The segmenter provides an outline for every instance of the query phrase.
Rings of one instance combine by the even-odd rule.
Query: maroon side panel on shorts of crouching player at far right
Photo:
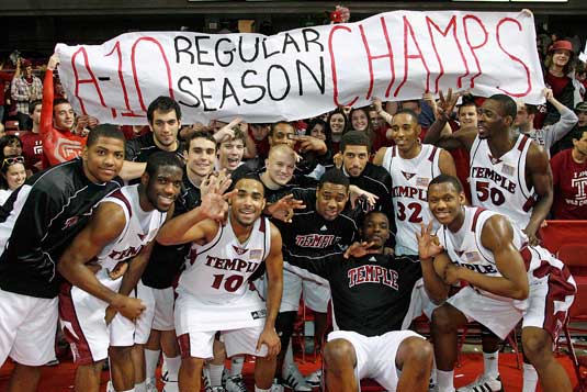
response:
[[[554,301],[564,302],[567,295],[576,294],[576,288],[568,282],[571,272],[566,266],[563,269],[550,265],[545,260],[540,261],[540,267],[533,271],[537,278],[549,276],[549,292],[544,299],[543,328],[551,334],[552,340],[558,340],[558,334],[566,320],[568,310],[554,312]]]

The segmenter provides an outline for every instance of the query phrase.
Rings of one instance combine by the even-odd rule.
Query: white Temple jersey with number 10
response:
[[[210,243],[192,244],[178,288],[206,303],[225,305],[238,301],[247,295],[248,279],[270,249],[271,228],[266,217],[255,222],[244,244],[239,243],[228,219]]]

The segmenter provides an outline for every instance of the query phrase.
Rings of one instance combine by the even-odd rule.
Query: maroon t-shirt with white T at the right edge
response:
[[[587,220],[587,163],[577,164],[573,148],[551,158],[555,220]]]

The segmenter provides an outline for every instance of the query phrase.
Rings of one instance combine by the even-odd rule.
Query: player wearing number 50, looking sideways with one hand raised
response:
[[[553,202],[552,171],[546,153],[529,136],[511,132],[517,115],[516,102],[504,94],[489,97],[479,109],[478,132],[461,128],[439,136],[439,128],[452,111],[456,97],[440,99],[440,113],[428,131],[425,143],[447,149],[463,148],[470,153],[472,204],[508,215],[522,229],[531,245],[537,245],[538,228]],[[497,368],[498,339],[483,335],[484,374],[463,392],[478,385],[493,391],[501,389]],[[524,392],[534,391],[538,376],[524,365]]]

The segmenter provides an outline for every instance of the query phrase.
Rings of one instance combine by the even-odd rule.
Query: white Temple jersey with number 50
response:
[[[535,203],[533,188],[526,183],[526,157],[531,139],[519,135],[516,145],[499,158],[492,156],[486,139],[477,136],[471,148],[473,205],[497,211],[521,229],[528,226]]]

